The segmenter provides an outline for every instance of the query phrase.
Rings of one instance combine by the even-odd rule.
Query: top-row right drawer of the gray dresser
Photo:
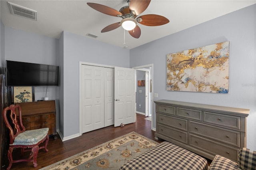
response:
[[[240,129],[240,117],[237,116],[204,112],[204,122]]]

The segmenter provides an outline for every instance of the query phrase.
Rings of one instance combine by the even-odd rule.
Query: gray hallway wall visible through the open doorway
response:
[[[136,71],[136,111],[141,112],[141,113],[145,113],[145,95],[146,95],[146,91],[145,91],[145,87],[138,87],[138,80],[145,80],[145,71]],[[142,91],[142,93],[139,93],[139,91]],[[140,105],[140,106],[139,106]]]

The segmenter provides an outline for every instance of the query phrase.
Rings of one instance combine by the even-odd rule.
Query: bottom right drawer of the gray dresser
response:
[[[218,154],[234,161],[237,161],[238,159],[238,148],[232,148],[192,134],[189,135],[189,145],[204,150],[210,154]]]

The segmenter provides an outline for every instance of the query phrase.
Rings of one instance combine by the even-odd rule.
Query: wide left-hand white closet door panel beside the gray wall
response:
[[[104,67],[82,65],[82,133],[104,127]]]

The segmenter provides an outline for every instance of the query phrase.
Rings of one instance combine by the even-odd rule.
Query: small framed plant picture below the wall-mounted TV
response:
[[[34,101],[34,87],[13,87],[13,101],[15,103]]]

